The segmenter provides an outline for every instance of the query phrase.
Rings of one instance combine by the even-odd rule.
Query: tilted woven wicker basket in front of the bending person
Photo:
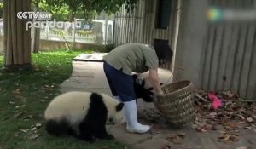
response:
[[[154,105],[172,127],[195,120],[194,86],[190,81],[167,84],[162,87],[164,95],[157,95]]]

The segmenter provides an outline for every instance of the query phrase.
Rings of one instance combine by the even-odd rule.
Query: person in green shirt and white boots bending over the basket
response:
[[[116,47],[103,57],[103,69],[113,98],[124,103],[123,113],[128,132],[145,133],[150,127],[137,121],[137,105],[132,72],[149,71],[154,94],[160,95],[158,67],[172,60],[172,49],[166,43],[154,45],[127,43]]]

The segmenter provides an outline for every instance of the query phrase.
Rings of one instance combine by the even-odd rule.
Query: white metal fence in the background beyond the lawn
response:
[[[86,21],[76,19],[73,23],[48,21],[39,28],[40,39],[43,40],[74,43],[113,43],[113,20]],[[0,26],[0,35],[3,36],[3,26]]]

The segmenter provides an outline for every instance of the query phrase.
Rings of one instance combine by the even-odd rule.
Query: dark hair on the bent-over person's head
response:
[[[167,43],[154,43],[153,46],[160,65],[172,61],[172,49]]]

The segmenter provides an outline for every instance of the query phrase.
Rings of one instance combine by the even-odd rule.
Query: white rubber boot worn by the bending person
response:
[[[137,122],[136,100],[124,102],[123,112],[126,120],[126,129],[132,133],[146,133],[150,127]]]

